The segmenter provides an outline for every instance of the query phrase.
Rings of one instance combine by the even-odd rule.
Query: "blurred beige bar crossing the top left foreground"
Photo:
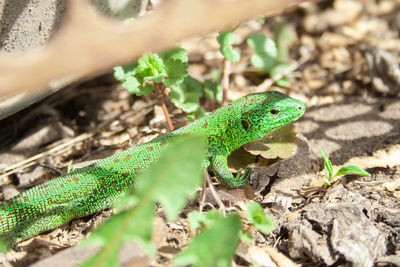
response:
[[[167,0],[129,26],[98,14],[89,1],[69,0],[60,29],[44,47],[0,53],[0,102],[40,94],[173,46],[196,34],[256,15],[280,13],[303,0]],[[50,89],[49,89],[50,88]]]

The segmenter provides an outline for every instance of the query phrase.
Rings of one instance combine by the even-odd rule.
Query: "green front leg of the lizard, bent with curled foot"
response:
[[[228,169],[227,157],[223,155],[213,156],[211,158],[211,165],[218,180],[230,188],[239,188],[248,185],[250,176],[253,173],[250,167],[246,167],[244,172],[239,170],[236,177],[233,176]]]

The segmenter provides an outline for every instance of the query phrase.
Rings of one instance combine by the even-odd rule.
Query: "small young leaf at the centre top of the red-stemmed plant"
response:
[[[167,69],[158,54],[145,54],[139,58],[137,72],[142,77],[143,82],[159,83],[167,77]]]

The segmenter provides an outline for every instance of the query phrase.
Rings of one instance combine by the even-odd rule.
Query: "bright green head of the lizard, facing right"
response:
[[[306,109],[303,102],[276,91],[249,94],[241,100],[240,123],[249,141],[298,120]]]

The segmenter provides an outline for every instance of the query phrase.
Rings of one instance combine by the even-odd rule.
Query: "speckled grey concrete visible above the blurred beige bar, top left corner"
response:
[[[92,4],[107,16],[123,19],[136,17],[148,1],[92,0]],[[43,45],[62,22],[66,6],[65,0],[0,0],[0,49],[20,52]]]

